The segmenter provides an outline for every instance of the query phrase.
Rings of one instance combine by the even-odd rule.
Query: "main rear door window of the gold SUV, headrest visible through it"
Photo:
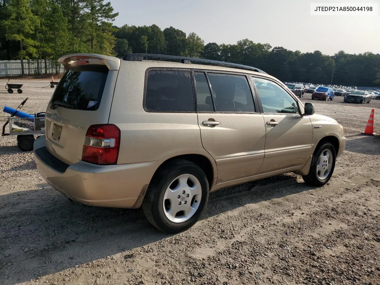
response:
[[[242,75],[207,73],[217,112],[255,112],[247,78]],[[211,97],[206,98],[212,103]]]

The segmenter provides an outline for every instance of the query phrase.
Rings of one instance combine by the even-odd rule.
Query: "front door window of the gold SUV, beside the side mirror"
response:
[[[299,114],[296,100],[275,82],[252,77],[264,113]]]

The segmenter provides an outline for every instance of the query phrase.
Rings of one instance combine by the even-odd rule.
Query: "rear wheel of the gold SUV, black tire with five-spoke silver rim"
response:
[[[142,209],[158,230],[179,233],[199,220],[208,197],[204,171],[188,160],[173,160],[153,176]]]

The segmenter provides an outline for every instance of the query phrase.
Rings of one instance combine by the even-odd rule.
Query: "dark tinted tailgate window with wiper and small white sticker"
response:
[[[63,108],[95,111],[99,108],[108,75],[105,65],[86,65],[70,68],[63,75],[51,103],[59,101]]]

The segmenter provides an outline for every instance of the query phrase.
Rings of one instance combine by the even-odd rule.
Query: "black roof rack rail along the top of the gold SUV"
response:
[[[220,67],[233,67],[233,68],[239,68],[239,69],[245,69],[245,70],[252,70],[260,73],[266,73],[265,71],[262,71],[261,69],[251,67],[248,65],[242,65],[237,63],[230,63],[230,62],[223,62],[218,60],[211,60],[211,59],[197,59],[195,57],[184,57],[184,56],[177,56],[177,55],[165,55],[165,54],[127,54],[123,57],[123,60],[129,60],[129,61],[142,61],[144,57],[151,57],[155,59],[175,59],[175,60],[181,60],[182,63],[191,63],[191,62],[199,62],[207,65],[216,65]]]

